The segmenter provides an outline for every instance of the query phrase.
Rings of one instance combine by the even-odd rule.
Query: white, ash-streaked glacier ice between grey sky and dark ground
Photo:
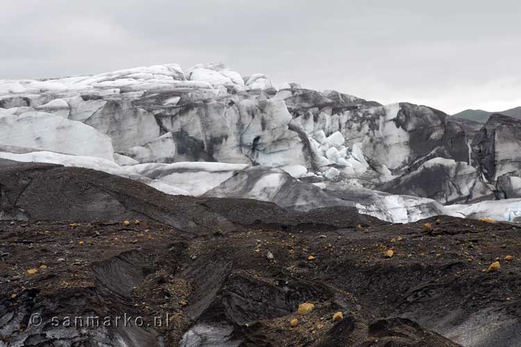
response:
[[[220,63],[0,80],[0,158],[106,171],[167,194],[349,205],[402,223],[520,221],[519,123],[490,117],[470,142],[427,106],[276,90]]]

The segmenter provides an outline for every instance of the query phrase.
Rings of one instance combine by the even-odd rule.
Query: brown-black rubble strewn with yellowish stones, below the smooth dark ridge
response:
[[[0,221],[0,254],[10,253],[0,262],[0,341],[40,347],[459,346],[453,339],[463,346],[515,346],[521,326],[518,228],[450,217],[428,221],[429,232],[420,221],[367,226],[366,232],[259,225],[199,237],[147,219],[76,228]],[[384,257],[391,247],[394,257]],[[514,255],[510,262],[508,254]],[[502,269],[483,273],[495,257]],[[38,273],[26,273],[33,268]],[[297,314],[304,302],[315,308]],[[345,319],[335,322],[339,311]],[[33,314],[44,324],[29,324]],[[124,314],[142,317],[145,326],[49,323],[53,316],[63,322],[64,316]],[[154,325],[158,316],[163,325]],[[290,328],[293,318],[298,324]]]

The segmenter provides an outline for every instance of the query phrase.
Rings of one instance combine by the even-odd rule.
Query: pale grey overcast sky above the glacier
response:
[[[0,0],[0,78],[167,62],[499,111],[521,105],[521,1]]]

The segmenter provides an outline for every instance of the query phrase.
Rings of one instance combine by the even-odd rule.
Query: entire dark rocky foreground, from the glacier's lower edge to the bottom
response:
[[[521,345],[515,223],[297,212],[53,164],[3,161],[0,185],[26,219],[0,223],[0,346]],[[124,314],[144,324],[65,323]]]

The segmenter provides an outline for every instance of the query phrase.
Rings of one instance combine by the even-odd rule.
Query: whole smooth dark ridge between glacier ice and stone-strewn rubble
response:
[[[380,223],[354,208],[347,208],[340,220],[331,217],[334,209],[319,210],[308,218],[263,201],[172,196],[128,178],[53,164],[1,160],[0,187],[1,219],[78,222],[146,218],[185,232],[234,230],[253,223],[281,223],[286,228],[299,228],[302,223],[309,227],[315,221],[320,228]]]

